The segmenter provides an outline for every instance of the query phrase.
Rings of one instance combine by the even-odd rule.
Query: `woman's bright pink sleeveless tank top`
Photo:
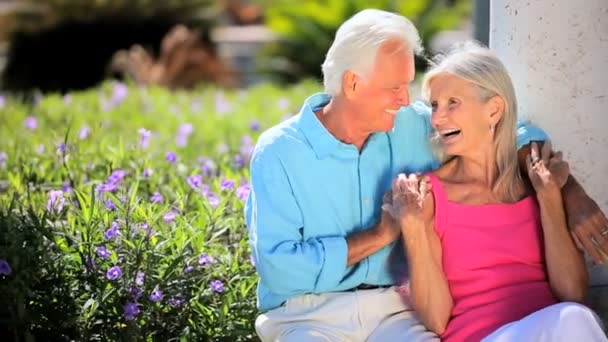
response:
[[[435,229],[454,307],[444,341],[479,341],[502,325],[555,304],[535,197],[513,204],[447,200],[431,174]]]

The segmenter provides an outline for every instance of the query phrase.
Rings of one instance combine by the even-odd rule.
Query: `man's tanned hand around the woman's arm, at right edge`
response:
[[[568,227],[576,245],[595,263],[608,261],[608,219],[572,177],[564,187]]]

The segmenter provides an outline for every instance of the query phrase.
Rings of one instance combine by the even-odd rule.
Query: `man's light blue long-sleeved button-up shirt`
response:
[[[404,259],[400,253],[389,262],[395,243],[347,267],[346,237],[379,222],[382,197],[399,173],[439,165],[426,104],[401,108],[394,129],[372,134],[359,151],[315,116],[329,100],[309,97],[298,115],[262,133],[253,153],[245,217],[260,310],[305,293],[394,284],[389,264]],[[519,146],[546,139],[537,127],[518,123]]]

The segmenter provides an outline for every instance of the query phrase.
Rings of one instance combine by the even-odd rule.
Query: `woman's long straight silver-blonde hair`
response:
[[[517,99],[507,68],[490,49],[475,42],[465,42],[434,59],[422,82],[425,98],[429,98],[431,81],[440,74],[451,74],[472,83],[482,102],[494,96],[504,101],[502,118],[494,127],[498,178],[493,192],[505,201],[518,200],[523,182],[517,158]]]

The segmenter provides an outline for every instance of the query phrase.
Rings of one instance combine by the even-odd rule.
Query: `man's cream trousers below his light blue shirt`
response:
[[[263,342],[439,341],[395,286],[290,298],[258,316],[255,328]]]

